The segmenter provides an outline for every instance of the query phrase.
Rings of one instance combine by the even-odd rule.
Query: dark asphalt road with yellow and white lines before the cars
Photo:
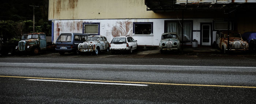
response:
[[[0,56],[0,88],[0,103],[255,104],[256,56]]]

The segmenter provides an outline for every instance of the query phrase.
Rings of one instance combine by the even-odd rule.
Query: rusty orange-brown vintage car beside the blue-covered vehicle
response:
[[[222,50],[225,54],[227,51],[246,51],[248,50],[248,42],[244,41],[238,32],[229,32],[229,43],[227,43],[228,31],[218,31],[216,41],[213,42],[215,47]],[[229,45],[229,47],[228,47]]]

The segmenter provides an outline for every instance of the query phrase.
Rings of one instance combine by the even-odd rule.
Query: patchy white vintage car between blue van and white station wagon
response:
[[[85,42],[78,44],[80,52],[93,52],[98,55],[99,51],[106,50],[109,52],[109,42],[104,36],[90,36]]]

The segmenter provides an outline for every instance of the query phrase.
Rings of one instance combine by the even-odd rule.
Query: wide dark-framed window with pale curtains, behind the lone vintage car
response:
[[[181,41],[182,28],[181,21],[165,21],[165,33],[174,32],[178,34],[178,38]],[[183,38],[186,42],[191,42],[192,34],[192,21],[184,21],[184,34]]]

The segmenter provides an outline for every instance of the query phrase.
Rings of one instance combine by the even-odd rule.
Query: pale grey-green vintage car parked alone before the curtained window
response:
[[[167,50],[180,50],[180,41],[177,33],[163,33],[159,43],[161,53]]]

